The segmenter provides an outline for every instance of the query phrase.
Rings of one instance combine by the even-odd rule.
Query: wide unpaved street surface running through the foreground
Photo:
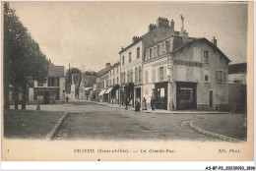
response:
[[[83,110],[78,110],[78,108]],[[182,140],[220,141],[189,128],[206,114],[156,114],[112,108],[92,102],[71,102],[70,112],[54,140]]]

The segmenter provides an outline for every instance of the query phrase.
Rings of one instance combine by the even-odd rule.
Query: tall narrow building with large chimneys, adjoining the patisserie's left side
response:
[[[130,99],[130,104],[134,106],[135,98],[142,99],[142,62],[145,57],[145,49],[160,40],[170,36],[178,35],[174,30],[173,20],[169,22],[165,18],[159,18],[157,25],[151,24],[149,31],[139,36],[133,37],[133,42],[119,52],[121,65],[121,104],[125,99]]]

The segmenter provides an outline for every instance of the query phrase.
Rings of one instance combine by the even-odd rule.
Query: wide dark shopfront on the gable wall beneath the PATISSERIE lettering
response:
[[[197,108],[195,83],[176,83],[177,110],[188,110]]]

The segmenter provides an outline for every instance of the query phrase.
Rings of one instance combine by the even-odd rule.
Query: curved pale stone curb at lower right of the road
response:
[[[189,127],[199,133],[202,133],[204,135],[207,135],[207,136],[210,136],[210,137],[213,137],[213,138],[216,138],[216,139],[219,139],[219,140],[222,140],[222,141],[225,141],[225,142],[243,142],[243,141],[239,141],[237,139],[233,139],[233,138],[229,138],[227,136],[224,136],[224,135],[220,135],[220,134],[216,134],[216,133],[212,133],[212,132],[208,132],[208,131],[205,131],[203,129],[200,129],[198,127],[195,127],[193,125],[193,123],[197,121],[197,120],[194,120],[194,121],[190,121],[189,122]]]

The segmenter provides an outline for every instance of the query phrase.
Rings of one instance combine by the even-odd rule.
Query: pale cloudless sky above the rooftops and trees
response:
[[[121,47],[148,32],[159,17],[191,37],[213,36],[232,61],[246,62],[247,4],[185,2],[10,2],[21,22],[55,65],[99,71],[119,61]]]

